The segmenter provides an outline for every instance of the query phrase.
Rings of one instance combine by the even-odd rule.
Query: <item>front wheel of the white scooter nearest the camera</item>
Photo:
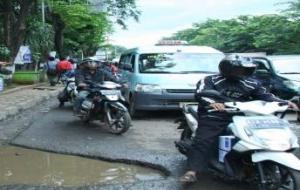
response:
[[[260,185],[260,190],[299,190],[300,172],[279,164],[263,166],[266,184]]]

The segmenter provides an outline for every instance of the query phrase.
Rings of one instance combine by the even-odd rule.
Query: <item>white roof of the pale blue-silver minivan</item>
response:
[[[222,53],[221,51],[208,46],[147,46],[137,47],[125,51],[127,53],[175,53],[175,52],[186,52],[186,53]]]

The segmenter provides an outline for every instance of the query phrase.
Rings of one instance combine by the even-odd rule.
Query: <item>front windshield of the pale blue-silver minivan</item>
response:
[[[217,73],[221,53],[155,53],[141,54],[141,73]]]

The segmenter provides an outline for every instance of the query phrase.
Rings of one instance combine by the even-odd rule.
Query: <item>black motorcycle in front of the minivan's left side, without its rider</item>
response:
[[[111,81],[104,81],[101,84],[88,83],[89,95],[82,102],[80,118],[85,122],[100,120],[113,134],[125,133],[131,126],[131,118],[124,106],[122,85]]]

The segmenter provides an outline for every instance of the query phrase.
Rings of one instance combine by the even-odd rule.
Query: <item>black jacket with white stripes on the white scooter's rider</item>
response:
[[[212,75],[197,83],[195,98],[199,102],[198,111],[206,111],[206,106],[216,102],[212,98],[200,96],[199,93],[203,90],[216,90],[222,95],[240,102],[251,100],[286,102],[267,92],[258,80],[251,77],[240,80],[228,80],[221,75]]]

